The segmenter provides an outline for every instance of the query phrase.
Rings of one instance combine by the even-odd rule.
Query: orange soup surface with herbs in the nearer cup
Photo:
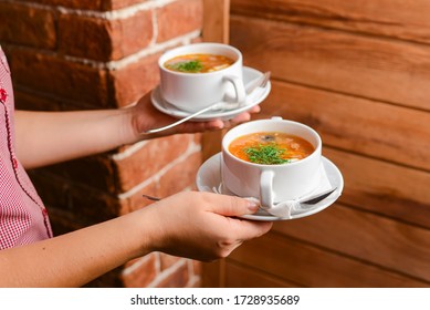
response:
[[[293,163],[310,156],[315,147],[306,140],[280,132],[261,132],[240,136],[229,145],[235,157],[263,165]]]

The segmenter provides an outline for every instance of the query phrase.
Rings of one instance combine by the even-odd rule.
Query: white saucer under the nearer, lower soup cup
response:
[[[222,188],[220,186],[221,184],[221,153],[218,153],[210,157],[208,161],[206,161],[201,167],[199,168],[197,173],[197,188],[200,192],[210,192],[214,193],[212,188],[220,188],[221,187],[221,194],[226,195],[234,195],[231,192],[229,192],[226,188]],[[332,187],[337,187],[337,190],[333,193],[331,196],[325,198],[324,200],[315,204],[312,208],[310,208],[308,211],[301,213],[297,215],[292,215],[291,218],[282,218],[276,217],[273,215],[268,214],[266,211],[260,209],[253,215],[245,215],[242,216],[242,218],[252,219],[252,220],[264,220],[264,221],[274,221],[274,220],[287,220],[287,219],[295,219],[301,218],[305,216],[310,216],[313,214],[316,214],[318,211],[322,211],[323,209],[327,208],[328,206],[333,205],[337,200],[337,198],[340,196],[342,190],[344,189],[344,178],[340,174],[340,170],[333,164],[331,161],[325,158],[323,156],[323,165],[325,168],[325,172],[327,174],[328,180],[332,185]]]

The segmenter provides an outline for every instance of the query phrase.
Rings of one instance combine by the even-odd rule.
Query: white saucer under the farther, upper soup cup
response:
[[[254,79],[263,75],[262,72],[249,68],[243,66],[243,82],[247,85],[247,83],[253,81]],[[259,87],[254,90],[245,100],[245,104],[241,107],[229,110],[229,111],[212,111],[212,112],[206,112],[201,115],[196,116],[191,121],[195,122],[201,122],[201,121],[211,121],[220,118],[222,121],[228,121],[237,116],[238,114],[245,112],[253,107],[254,105],[258,105],[263,100],[266,99],[271,90],[271,83],[270,81],[265,85],[265,87]],[[190,115],[190,112],[180,110],[174,105],[171,105],[169,102],[167,102],[165,99],[162,99],[160,89],[157,86],[153,93],[151,93],[151,102],[153,105],[160,112],[166,113],[170,116],[177,117],[177,118],[183,118]]]

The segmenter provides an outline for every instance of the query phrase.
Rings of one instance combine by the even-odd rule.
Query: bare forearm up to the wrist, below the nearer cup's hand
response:
[[[149,252],[151,226],[139,213],[0,251],[0,287],[81,287]]]

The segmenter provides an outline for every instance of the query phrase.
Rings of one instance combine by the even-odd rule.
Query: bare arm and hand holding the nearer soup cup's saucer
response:
[[[80,287],[154,250],[206,261],[227,257],[271,228],[230,217],[255,210],[238,197],[180,193],[109,221],[0,251],[0,287]]]

